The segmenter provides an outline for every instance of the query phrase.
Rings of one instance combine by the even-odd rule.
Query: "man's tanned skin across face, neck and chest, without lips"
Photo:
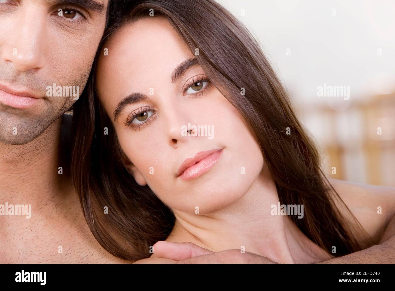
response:
[[[98,2],[104,12],[81,7],[87,20],[76,24],[55,13],[64,5],[0,0],[0,84],[43,97],[24,109],[0,103],[0,203],[32,205],[30,219],[0,216],[0,263],[124,262],[90,233],[60,159],[60,116],[74,100],[45,95],[53,82],[82,92],[105,27]]]

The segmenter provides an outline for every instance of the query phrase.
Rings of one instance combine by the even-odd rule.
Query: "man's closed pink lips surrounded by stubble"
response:
[[[38,102],[40,96],[27,89],[15,89],[0,84],[0,102],[15,108],[26,108]]]

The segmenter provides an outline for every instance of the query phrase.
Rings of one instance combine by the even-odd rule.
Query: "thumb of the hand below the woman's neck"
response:
[[[199,247],[191,242],[174,243],[159,241],[153,245],[153,250],[156,257],[175,261],[191,259],[213,253],[212,251]]]

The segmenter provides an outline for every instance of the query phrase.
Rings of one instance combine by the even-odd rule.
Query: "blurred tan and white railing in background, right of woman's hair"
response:
[[[316,138],[329,177],[395,186],[395,92],[329,105],[297,107]]]

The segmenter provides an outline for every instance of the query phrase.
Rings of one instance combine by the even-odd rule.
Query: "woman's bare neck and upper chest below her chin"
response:
[[[266,177],[265,177],[266,176]],[[331,258],[284,215],[270,175],[261,174],[246,194],[229,207],[207,215],[174,210],[169,242],[192,242],[214,252],[226,249],[256,253],[279,263],[307,263]]]

